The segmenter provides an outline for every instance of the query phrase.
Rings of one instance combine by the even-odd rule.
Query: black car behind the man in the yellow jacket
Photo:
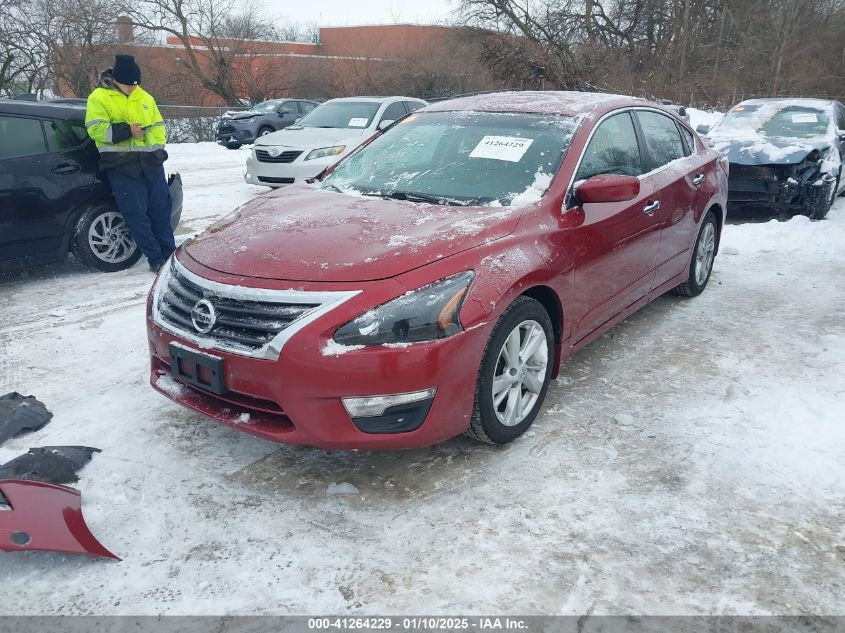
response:
[[[0,99],[0,273],[62,261],[112,272],[141,257],[85,131],[85,108]],[[182,181],[168,179],[173,227]]]

